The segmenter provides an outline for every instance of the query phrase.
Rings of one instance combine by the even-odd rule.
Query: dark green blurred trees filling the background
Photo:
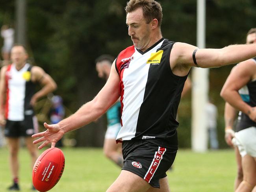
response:
[[[14,18],[14,0],[2,0],[0,24]],[[195,0],[159,0],[163,6],[162,33],[173,41],[196,44]],[[104,81],[97,77],[95,58],[117,56],[132,44],[125,24],[123,0],[27,0],[28,48],[35,65],[43,67],[58,83],[56,94],[76,111],[91,100]],[[221,48],[244,43],[255,27],[253,0],[206,1],[206,47]],[[6,16],[7,15],[7,16]],[[210,95],[219,108],[219,140],[223,140],[224,102],[219,96],[232,66],[210,70]],[[216,78],[217,77],[217,78]],[[180,103],[178,128],[181,147],[190,147],[191,97]],[[78,146],[102,146],[105,118],[78,129]],[[223,140],[224,141],[224,140]],[[221,147],[226,147],[221,142]]]

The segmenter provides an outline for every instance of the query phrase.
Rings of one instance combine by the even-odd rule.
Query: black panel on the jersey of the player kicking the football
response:
[[[177,148],[176,114],[181,92],[187,76],[176,76],[171,71],[170,53],[174,42],[164,40],[157,50],[163,50],[159,65],[150,64],[143,103],[139,111],[136,133],[133,139],[155,137],[150,142],[166,148]]]

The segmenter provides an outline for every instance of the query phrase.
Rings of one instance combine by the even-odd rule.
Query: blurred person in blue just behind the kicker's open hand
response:
[[[63,106],[63,100],[61,96],[55,95],[51,99],[52,108],[50,110],[51,124],[56,124],[63,120],[65,116],[65,109]],[[56,147],[63,147],[62,138],[56,143]]]

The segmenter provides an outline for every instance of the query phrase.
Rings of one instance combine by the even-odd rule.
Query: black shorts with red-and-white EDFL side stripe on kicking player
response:
[[[151,186],[160,188],[159,179],[166,177],[177,150],[167,149],[147,140],[122,142],[124,166],[122,170],[139,175]]]

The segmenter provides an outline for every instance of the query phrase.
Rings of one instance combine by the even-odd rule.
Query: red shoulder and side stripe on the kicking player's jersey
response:
[[[124,83],[122,81],[123,78],[123,73],[124,73],[124,69],[129,67],[130,61],[132,55],[135,52],[135,48],[134,45],[130,46],[128,48],[126,48],[125,50],[122,50],[122,52],[120,52],[120,54],[117,57],[116,60],[116,67],[118,70],[118,74],[120,77],[120,83],[119,83],[119,94],[120,94],[120,102],[121,102],[121,114],[122,114],[122,109],[124,107],[124,103],[122,102],[122,100],[124,99]],[[122,118],[121,118],[121,126],[122,126]]]

